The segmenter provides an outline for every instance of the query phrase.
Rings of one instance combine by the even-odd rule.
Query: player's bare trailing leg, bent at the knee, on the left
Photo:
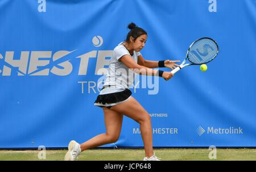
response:
[[[115,143],[118,140],[122,128],[123,115],[105,107],[103,110],[106,133],[97,135],[80,144],[81,151],[108,143]]]

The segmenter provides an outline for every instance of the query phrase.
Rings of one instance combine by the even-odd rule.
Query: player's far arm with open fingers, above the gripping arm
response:
[[[179,66],[179,65],[175,64],[176,62],[180,62],[180,61],[166,60],[166,61],[164,61],[164,67],[168,67],[168,68],[171,68],[173,70],[175,67]],[[159,61],[148,61],[148,60],[144,59],[142,57],[142,55],[138,56],[138,64],[141,65],[141,66],[144,66],[144,67],[148,67],[148,68],[159,67],[158,66]]]

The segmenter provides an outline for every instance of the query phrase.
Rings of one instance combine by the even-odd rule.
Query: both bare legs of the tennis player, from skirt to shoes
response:
[[[111,109],[104,108],[106,133],[82,143],[80,145],[81,151],[117,141],[122,127],[122,114],[140,124],[146,157],[153,156],[151,117],[133,97],[122,104],[113,106]]]

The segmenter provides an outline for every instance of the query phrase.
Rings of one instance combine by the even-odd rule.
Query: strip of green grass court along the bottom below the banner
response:
[[[40,151],[0,151],[1,161],[42,161],[38,158]],[[46,150],[47,161],[61,161],[67,150]],[[217,159],[209,159],[210,151],[205,149],[169,148],[155,149],[155,155],[162,161],[256,161],[256,149],[217,149]],[[90,149],[80,154],[80,161],[141,161],[143,149]]]

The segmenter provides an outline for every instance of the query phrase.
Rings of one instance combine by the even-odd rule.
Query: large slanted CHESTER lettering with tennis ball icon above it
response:
[[[98,48],[102,45],[101,36],[92,38],[93,46]],[[105,75],[106,66],[109,65],[113,50],[93,50],[84,53],[79,50],[60,51],[6,51],[0,52],[0,75],[11,76],[14,72],[18,76],[48,76],[50,73],[58,76],[66,76],[73,71],[75,59],[79,61],[78,75],[86,75],[90,59],[97,59],[95,75]],[[18,58],[19,57],[19,58]]]

